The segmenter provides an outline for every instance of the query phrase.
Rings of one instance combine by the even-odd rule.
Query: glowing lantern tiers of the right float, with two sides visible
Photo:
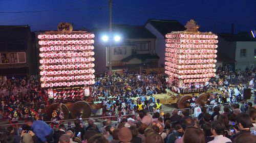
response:
[[[165,38],[165,73],[177,81],[175,86],[182,88],[183,83],[195,82],[204,85],[216,75],[217,35],[172,32]]]

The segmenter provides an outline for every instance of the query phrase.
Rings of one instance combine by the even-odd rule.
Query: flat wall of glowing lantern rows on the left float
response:
[[[94,34],[44,33],[39,39],[39,69],[42,88],[83,86],[95,78]],[[87,74],[87,75],[85,75]],[[91,81],[90,81],[91,80]]]

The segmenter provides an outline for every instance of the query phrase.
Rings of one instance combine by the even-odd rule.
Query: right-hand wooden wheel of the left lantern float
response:
[[[75,102],[70,110],[72,119],[76,119],[79,113],[81,113],[82,119],[89,118],[92,113],[91,106],[85,101]]]

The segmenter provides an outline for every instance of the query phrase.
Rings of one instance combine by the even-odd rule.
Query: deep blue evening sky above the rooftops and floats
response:
[[[255,6],[255,0],[113,0],[113,23],[143,25],[152,18],[185,24],[193,18],[201,26],[200,31],[230,32],[231,23],[234,23],[235,32],[250,31],[256,29]],[[61,21],[72,22],[74,29],[108,27],[109,1],[0,1],[0,25],[28,24],[32,31],[56,30]]]

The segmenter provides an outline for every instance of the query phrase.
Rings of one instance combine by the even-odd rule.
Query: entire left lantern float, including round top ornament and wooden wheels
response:
[[[65,119],[82,118],[91,115],[91,107],[84,99],[90,96],[90,85],[95,83],[94,34],[86,31],[73,31],[72,24],[61,22],[58,31],[38,35],[39,69],[41,88],[48,91],[49,101],[55,102],[46,107],[51,117],[52,110],[62,104]]]

